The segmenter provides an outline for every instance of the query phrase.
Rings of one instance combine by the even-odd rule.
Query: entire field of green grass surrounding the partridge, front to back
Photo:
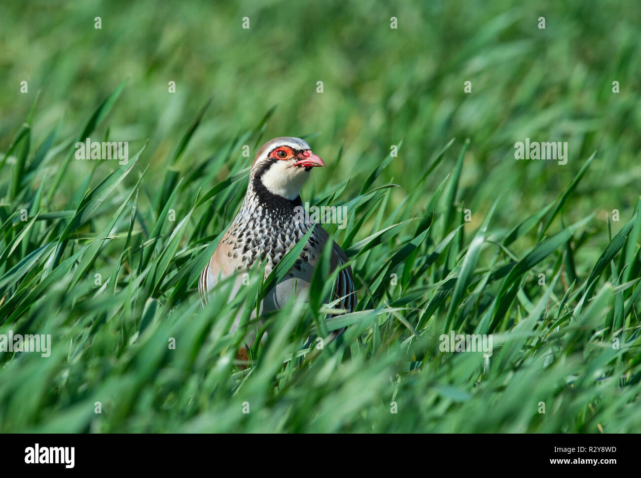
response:
[[[52,350],[0,353],[0,431],[641,429],[639,12],[618,5],[3,6],[0,334]],[[319,275],[239,370],[227,330],[263,284],[201,309],[197,279],[279,135],[328,166],[303,201],[348,207],[324,227],[360,302],[325,321]],[[128,163],[76,160],[87,137]],[[567,164],[514,160],[526,137]],[[442,351],[451,331],[492,356]]]

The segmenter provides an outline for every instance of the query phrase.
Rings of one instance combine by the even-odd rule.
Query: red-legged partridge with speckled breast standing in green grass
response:
[[[221,280],[236,274],[231,290],[232,300],[242,287],[240,272],[247,271],[256,260],[266,260],[267,277],[312,227],[312,234],[294,266],[263,299],[260,314],[281,309],[292,294],[296,294],[296,298],[306,296],[327,241],[331,240],[333,243],[330,272],[348,262],[344,250],[304,212],[300,192],[314,167],[325,167],[325,163],[300,138],[274,138],[258,149],[249,172],[249,183],[242,206],[199,278],[199,294],[205,307],[208,293]],[[351,266],[338,272],[333,289],[333,300],[338,300],[340,309],[353,312],[357,300]],[[255,317],[255,311],[253,316]],[[240,312],[230,332],[237,330],[239,320]],[[246,345],[237,354],[240,361],[247,361],[246,347],[256,339],[257,330],[258,326],[245,337]],[[266,339],[267,334],[263,334],[262,343]]]

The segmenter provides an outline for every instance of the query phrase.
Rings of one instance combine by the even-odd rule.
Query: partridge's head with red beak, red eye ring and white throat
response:
[[[288,200],[296,199],[310,177],[312,167],[325,166],[310,145],[300,138],[281,137],[267,141],[258,149],[249,181],[258,182],[267,191]]]

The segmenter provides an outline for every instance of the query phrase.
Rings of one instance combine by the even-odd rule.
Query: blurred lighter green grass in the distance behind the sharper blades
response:
[[[469,137],[461,197],[485,213],[501,184],[510,208],[497,218],[507,224],[515,211],[528,214],[554,198],[595,149],[600,180],[582,185],[577,217],[594,205],[629,210],[638,192],[641,8],[634,1],[36,1],[1,8],[4,148],[37,90],[35,135],[63,115],[62,132],[71,135],[88,108],[128,79],[111,136],[149,138],[151,165],[160,166],[180,128],[212,97],[183,162],[214,153],[277,105],[265,137],[318,132],[314,146],[330,158],[344,144],[342,177],[404,138],[401,158],[384,174],[412,187],[444,142]],[[19,93],[23,80],[28,94]],[[463,92],[464,81],[472,81],[472,94]],[[526,137],[567,141],[569,164],[515,162],[513,144]],[[81,167],[69,172],[73,186]]]

